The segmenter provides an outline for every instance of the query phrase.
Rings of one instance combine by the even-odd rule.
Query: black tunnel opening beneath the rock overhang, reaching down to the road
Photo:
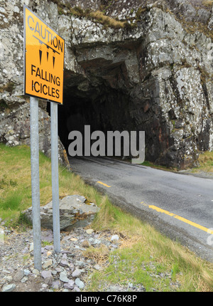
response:
[[[117,75],[116,75],[117,77]],[[79,131],[82,133],[82,146],[84,156],[84,127],[89,125],[90,134],[94,131],[104,132],[105,137],[105,156],[107,155],[107,132],[108,131],[118,131],[129,133],[129,154],[126,154],[124,150],[124,137],[121,137],[121,154],[116,154],[116,144],[113,143],[113,157],[120,157],[125,159],[131,159],[133,156],[131,154],[131,131],[146,130],[146,152],[148,148],[155,154],[158,151],[153,150],[152,137],[149,137],[151,129],[150,125],[153,124],[152,117],[149,118],[148,112],[144,112],[144,102],[147,105],[147,99],[145,101],[139,100],[135,94],[135,88],[130,90],[126,88],[124,82],[122,85],[111,86],[111,83],[107,80],[101,80],[97,78],[95,85],[84,84],[85,87],[80,87],[79,85],[65,86],[63,105],[58,105],[58,135],[60,141],[65,147],[68,158],[69,145],[72,142],[68,138],[70,132]],[[50,114],[50,105],[48,104],[48,112]],[[148,118],[148,119],[147,119]],[[158,124],[158,122],[157,122]],[[137,134],[137,144],[136,149],[139,149],[139,139]],[[92,141],[91,141],[92,144]],[[128,150],[127,150],[128,151]],[[155,156],[146,158],[154,160]]]

